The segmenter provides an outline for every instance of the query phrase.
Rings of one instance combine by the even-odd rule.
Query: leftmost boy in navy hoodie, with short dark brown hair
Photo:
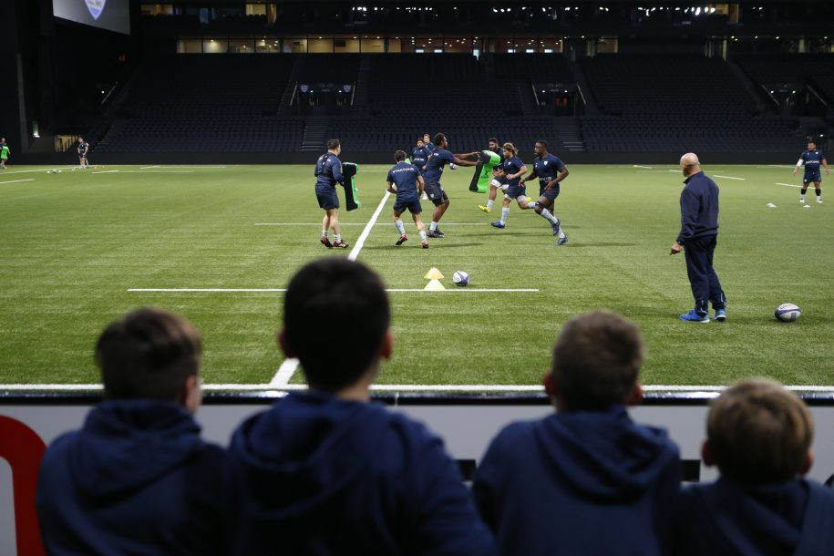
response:
[[[139,309],[96,360],[106,400],[46,450],[36,504],[48,554],[221,554],[223,450],[201,439],[201,341],[184,318]]]

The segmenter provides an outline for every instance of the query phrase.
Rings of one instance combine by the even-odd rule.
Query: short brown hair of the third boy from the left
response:
[[[551,367],[559,407],[602,411],[631,396],[643,364],[637,327],[610,311],[571,319],[553,347]]]

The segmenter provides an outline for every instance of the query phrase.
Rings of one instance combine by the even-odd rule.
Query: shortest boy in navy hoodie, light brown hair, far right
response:
[[[777,382],[745,380],[710,409],[702,457],[714,483],[687,487],[675,554],[834,554],[834,493],[802,476],[813,463],[808,407]]]

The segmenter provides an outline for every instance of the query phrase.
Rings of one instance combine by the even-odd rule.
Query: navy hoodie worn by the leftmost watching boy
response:
[[[100,404],[41,463],[36,504],[46,552],[220,554],[223,458],[183,407]]]

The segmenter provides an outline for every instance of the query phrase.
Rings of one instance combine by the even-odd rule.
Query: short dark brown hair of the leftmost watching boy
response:
[[[176,401],[188,378],[199,373],[201,353],[200,334],[188,320],[143,308],[104,329],[96,363],[110,399]]]

